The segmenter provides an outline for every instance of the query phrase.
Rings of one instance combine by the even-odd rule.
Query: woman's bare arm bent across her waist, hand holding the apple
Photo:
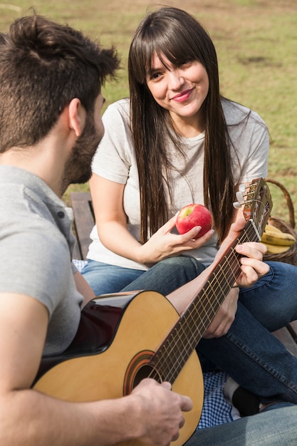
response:
[[[162,226],[150,240],[140,244],[127,229],[127,216],[123,209],[125,185],[93,174],[90,179],[95,221],[98,236],[104,246],[120,256],[141,264],[155,264],[169,256],[202,246],[214,233],[212,230],[194,240],[200,228],[195,227],[187,234],[171,234],[176,216]]]

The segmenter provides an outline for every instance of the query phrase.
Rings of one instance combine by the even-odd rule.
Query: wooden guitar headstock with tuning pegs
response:
[[[256,232],[261,238],[272,209],[271,193],[265,180],[256,178],[247,187],[241,185],[236,197],[239,201],[234,203],[234,207],[238,208],[241,207],[241,204],[244,205],[243,213],[246,222],[249,220],[253,222]]]

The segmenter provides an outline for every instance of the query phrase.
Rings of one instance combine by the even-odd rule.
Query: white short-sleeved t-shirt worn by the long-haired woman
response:
[[[231,149],[234,160],[235,184],[250,182],[254,178],[266,177],[269,152],[269,134],[263,120],[255,112],[242,105],[222,100],[229,135],[235,149]],[[123,205],[127,215],[127,229],[139,241],[140,239],[140,192],[135,151],[129,125],[129,99],[119,100],[108,107],[103,115],[105,134],[93,158],[92,170],[107,180],[125,184]],[[250,113],[251,112],[251,113]],[[249,118],[242,125],[236,125]],[[186,150],[186,159],[181,157],[174,147],[168,147],[170,161],[177,168],[170,172],[172,199],[170,215],[189,203],[204,204],[203,165],[204,133],[194,138],[182,138]],[[235,153],[236,151],[236,153]],[[168,202],[170,202],[167,194]],[[133,269],[147,269],[147,266],[126,259],[106,249],[100,242],[97,228],[94,227],[90,238],[88,259],[102,261]],[[217,234],[214,234],[203,247],[193,250],[190,255],[205,265],[209,265],[217,253]]]

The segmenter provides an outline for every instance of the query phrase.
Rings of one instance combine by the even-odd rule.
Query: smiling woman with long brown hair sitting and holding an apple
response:
[[[166,261],[209,265],[240,215],[235,191],[267,175],[266,125],[220,95],[212,40],[185,11],[165,7],[142,21],[129,82],[130,101],[103,116],[93,160],[96,227],[83,274],[96,294],[150,287],[145,276]],[[211,209],[214,233],[174,231],[177,210],[190,202]],[[261,403],[297,403],[297,360],[270,333],[297,318],[297,268],[269,266],[250,289],[231,290],[197,351],[204,370],[211,361]]]

